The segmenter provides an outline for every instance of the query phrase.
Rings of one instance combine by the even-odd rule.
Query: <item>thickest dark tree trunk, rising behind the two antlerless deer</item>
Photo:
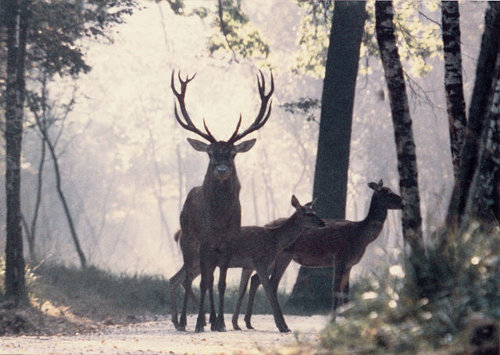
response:
[[[345,218],[351,123],[359,51],[366,20],[364,1],[335,1],[325,67],[313,195],[322,218]],[[332,268],[301,267],[289,299],[308,311],[330,309]]]

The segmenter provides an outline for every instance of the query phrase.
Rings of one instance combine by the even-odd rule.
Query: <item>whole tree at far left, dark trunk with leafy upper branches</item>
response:
[[[5,284],[6,296],[16,303],[26,295],[20,199],[26,68],[37,73],[44,71],[48,76],[76,76],[89,71],[83,60],[83,47],[76,40],[83,36],[106,37],[107,26],[123,22],[123,16],[130,14],[133,6],[134,0],[0,2],[1,31],[7,33],[7,50],[0,46],[0,103],[5,105],[6,147]]]

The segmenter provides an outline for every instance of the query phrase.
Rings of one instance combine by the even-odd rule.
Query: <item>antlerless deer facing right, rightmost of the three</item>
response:
[[[379,236],[387,217],[387,210],[403,207],[401,197],[388,187],[384,187],[382,180],[378,184],[370,182],[368,186],[374,192],[368,215],[364,220],[353,222],[326,219],[326,227],[304,231],[295,243],[277,256],[270,280],[275,294],[281,277],[292,260],[305,267],[333,266],[332,311],[333,317],[335,317],[337,307],[347,302],[351,268],[361,260],[368,244]],[[279,224],[281,221],[277,220],[274,223]],[[245,281],[242,280],[241,283],[243,282]],[[251,325],[252,306],[259,284],[259,276],[252,276],[245,314],[245,323],[248,329],[253,329]],[[235,318],[238,318],[236,312],[233,315],[233,319]]]

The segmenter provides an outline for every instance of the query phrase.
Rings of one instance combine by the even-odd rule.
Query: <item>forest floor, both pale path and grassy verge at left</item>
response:
[[[158,294],[163,280],[59,266],[40,268],[33,279],[29,305],[0,302],[0,354],[307,354],[329,320],[285,314],[292,332],[282,334],[270,314],[253,315],[255,330],[241,331],[227,314],[226,332],[207,326],[195,333],[191,314],[188,330],[178,332]]]

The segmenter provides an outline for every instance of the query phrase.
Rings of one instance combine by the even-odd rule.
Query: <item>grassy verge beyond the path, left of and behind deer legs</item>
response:
[[[5,269],[2,259],[0,267],[1,273]],[[82,270],[74,266],[43,263],[36,267],[26,267],[26,282],[30,304],[21,311],[24,312],[23,317],[33,323],[33,326],[26,329],[44,328],[44,333],[52,331],[49,327],[43,327],[46,323],[61,323],[62,330],[56,329],[56,332],[83,332],[92,330],[99,324],[150,320],[158,316],[169,316],[170,312],[168,280],[162,277],[117,274],[96,267]],[[217,297],[217,287],[214,291]],[[0,275],[0,294],[3,292],[3,275]],[[194,292],[199,295],[196,286]],[[227,312],[232,312],[235,308],[237,295],[237,286],[227,288]],[[182,296],[183,292],[179,291],[178,307],[182,305]],[[286,302],[286,297],[285,294],[279,294],[282,304]],[[242,308],[245,306],[246,297]],[[196,313],[197,307],[190,300],[188,312]],[[262,290],[255,297],[254,313],[272,313]],[[44,317],[50,319],[44,320]]]

